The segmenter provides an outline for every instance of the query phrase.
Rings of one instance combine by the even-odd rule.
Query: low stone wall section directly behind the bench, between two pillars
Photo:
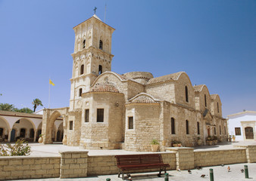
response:
[[[164,152],[162,153],[162,158],[165,164],[170,164],[170,167],[167,170],[176,169],[176,154],[175,152]],[[130,173],[139,173],[139,172],[150,172],[157,171],[158,169],[148,169],[148,170],[131,170]],[[89,176],[95,175],[108,175],[108,174],[117,174],[117,161],[114,158],[114,155],[95,155],[89,156],[88,158],[88,170],[87,174]]]

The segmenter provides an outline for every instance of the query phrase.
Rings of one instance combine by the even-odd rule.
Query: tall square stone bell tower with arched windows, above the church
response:
[[[89,90],[95,78],[111,71],[111,38],[114,28],[103,23],[95,14],[73,27],[75,44],[70,89],[70,111],[82,106],[81,94]]]

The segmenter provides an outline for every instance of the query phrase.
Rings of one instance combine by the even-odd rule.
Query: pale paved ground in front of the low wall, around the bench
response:
[[[244,168],[244,165],[248,165],[248,173],[249,179],[245,179],[245,173],[241,172],[241,169]],[[215,167],[203,167],[201,170],[191,170],[192,173],[189,174],[187,170],[177,171],[177,170],[170,170],[167,173],[170,174],[169,181],[208,181],[210,180],[209,176],[209,169],[214,169],[214,181],[256,181],[256,163],[245,163],[245,164],[229,164],[222,166],[215,166]],[[230,172],[227,171],[227,167],[230,167]],[[205,174],[204,178],[201,178],[201,175]],[[150,173],[134,173],[131,174],[133,181],[164,181],[164,175],[162,177],[157,176],[157,172],[150,172]],[[73,178],[73,179],[20,179],[22,181],[105,181],[107,178],[110,178],[111,181],[121,181],[122,179],[117,177],[117,174],[114,175],[105,175],[105,176],[91,176],[86,178]],[[19,179],[16,179],[19,180]]]

